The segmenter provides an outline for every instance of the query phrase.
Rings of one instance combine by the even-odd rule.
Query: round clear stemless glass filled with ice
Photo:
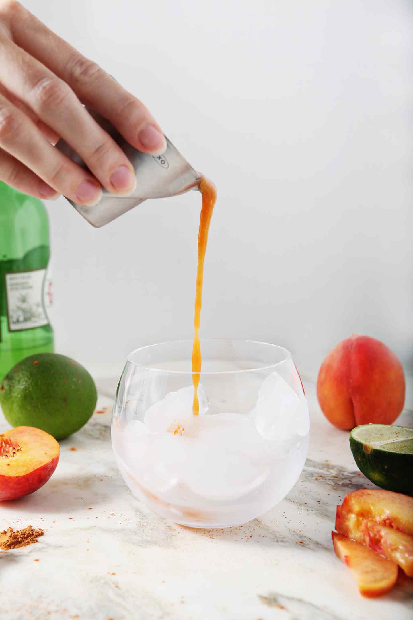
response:
[[[128,356],[112,416],[124,481],[159,515],[196,528],[246,523],[275,506],[302,472],[308,407],[282,347],[201,340],[193,415],[192,340]]]

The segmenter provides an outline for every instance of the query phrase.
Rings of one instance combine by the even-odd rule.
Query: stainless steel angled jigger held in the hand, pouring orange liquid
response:
[[[128,196],[110,193],[102,188],[102,199],[95,206],[78,205],[66,198],[76,211],[79,211],[80,215],[87,219],[89,224],[95,228],[100,228],[123,215],[126,211],[130,211],[134,206],[140,205],[148,198],[167,198],[198,188],[201,180],[199,172],[196,172],[188,164],[166,136],[168,148],[165,153],[159,156],[148,155],[131,146],[106,118],[94,110],[90,110],[90,108],[87,110],[96,122],[119,144],[136,174],[136,188]],[[76,164],[88,170],[85,162],[63,139],[58,141],[56,148]]]

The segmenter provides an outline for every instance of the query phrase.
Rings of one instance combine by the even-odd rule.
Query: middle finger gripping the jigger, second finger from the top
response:
[[[72,146],[109,192],[133,190],[135,174],[128,157],[66,82],[12,41],[0,46],[0,66],[7,75],[7,89]]]

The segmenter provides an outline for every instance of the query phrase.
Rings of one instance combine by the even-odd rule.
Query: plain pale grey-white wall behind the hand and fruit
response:
[[[289,348],[352,332],[413,368],[409,0],[28,0],[152,110],[219,200],[202,335]],[[49,203],[57,350],[94,373],[191,337],[196,192],[93,229]]]

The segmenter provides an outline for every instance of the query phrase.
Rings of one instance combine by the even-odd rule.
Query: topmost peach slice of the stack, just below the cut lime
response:
[[[346,495],[342,510],[413,536],[413,497],[382,489],[360,489]]]

